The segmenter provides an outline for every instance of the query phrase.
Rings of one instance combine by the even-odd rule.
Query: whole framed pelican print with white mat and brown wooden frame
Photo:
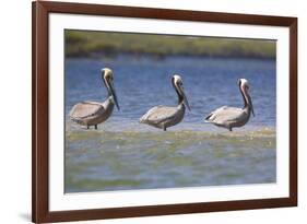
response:
[[[297,204],[297,19],[33,2],[33,222]]]

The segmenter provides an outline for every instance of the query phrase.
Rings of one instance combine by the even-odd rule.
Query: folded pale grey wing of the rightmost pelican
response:
[[[212,111],[205,120],[214,123],[233,122],[240,119],[243,114],[241,108],[223,106]]]

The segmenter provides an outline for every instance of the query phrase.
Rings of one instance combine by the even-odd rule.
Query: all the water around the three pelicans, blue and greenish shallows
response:
[[[120,111],[98,130],[68,118],[84,99],[103,101],[99,70],[115,71]],[[152,106],[175,105],[178,72],[192,111],[167,132],[138,122]],[[223,106],[241,106],[236,85],[251,85],[256,117],[228,132],[203,123]],[[66,192],[267,184],[276,179],[275,62],[272,60],[119,57],[66,61]]]

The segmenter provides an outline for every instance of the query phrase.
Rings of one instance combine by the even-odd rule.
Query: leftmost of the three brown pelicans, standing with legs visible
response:
[[[69,114],[74,122],[86,126],[87,129],[91,126],[95,126],[95,129],[97,129],[98,123],[107,120],[113,113],[114,105],[116,105],[119,110],[113,84],[113,71],[108,68],[102,69],[102,80],[108,91],[107,99],[103,103],[88,101],[78,103],[72,107]]]

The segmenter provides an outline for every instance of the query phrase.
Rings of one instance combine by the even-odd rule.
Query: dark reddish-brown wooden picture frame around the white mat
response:
[[[32,220],[37,223],[297,205],[297,17],[36,1],[32,4]],[[73,13],[290,28],[290,197],[50,212],[48,209],[48,14]]]

